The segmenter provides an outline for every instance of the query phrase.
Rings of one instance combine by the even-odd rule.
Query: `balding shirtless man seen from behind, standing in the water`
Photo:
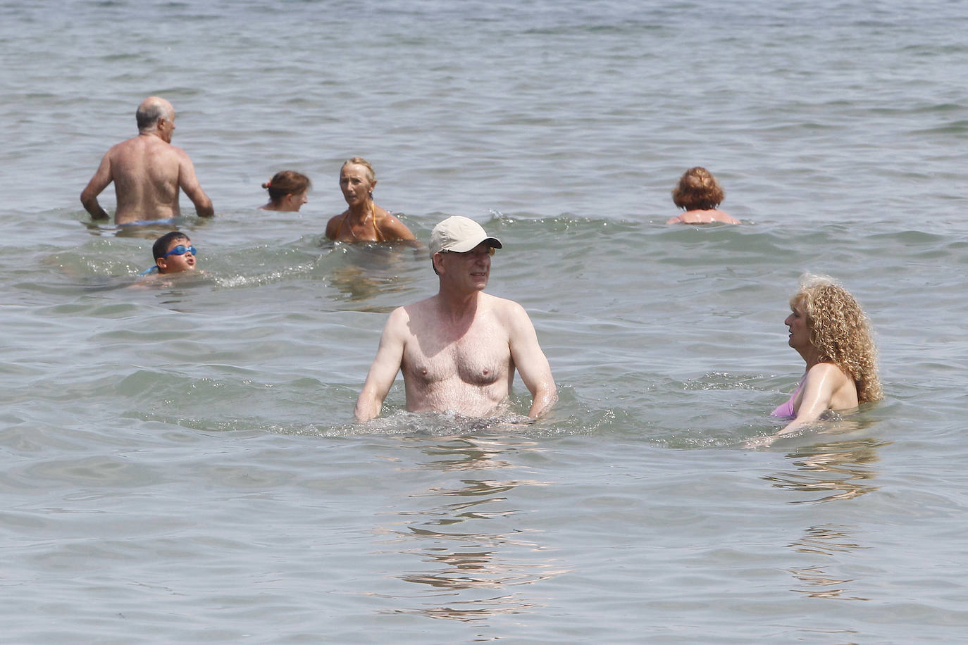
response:
[[[98,195],[114,182],[114,223],[168,220],[181,215],[178,191],[185,191],[200,217],[215,215],[212,200],[201,190],[192,160],[171,145],[175,111],[165,99],[148,97],[137,106],[137,136],[112,146],[94,177],[80,193],[80,203],[94,220],[108,218]]]

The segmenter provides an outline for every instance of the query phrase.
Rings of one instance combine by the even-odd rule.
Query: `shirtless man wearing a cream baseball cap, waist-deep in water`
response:
[[[531,419],[554,405],[555,379],[528,313],[484,293],[491,255],[500,248],[497,238],[468,218],[447,218],[434,228],[430,253],[439,292],[390,314],[356,400],[358,421],[378,416],[400,370],[410,412],[499,413],[515,368],[531,393]]]

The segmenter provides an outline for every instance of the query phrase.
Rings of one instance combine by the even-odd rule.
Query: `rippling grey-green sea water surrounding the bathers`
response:
[[[4,643],[953,643],[968,630],[962,2],[0,5]],[[172,224],[78,195],[135,108]],[[423,253],[323,239],[342,161],[488,292],[560,388],[534,425],[352,408]],[[740,226],[668,226],[693,165]],[[298,213],[258,210],[278,170]],[[113,189],[101,196],[113,212]],[[744,450],[802,375],[802,273],[869,313],[886,397]],[[516,382],[512,407],[527,412]]]

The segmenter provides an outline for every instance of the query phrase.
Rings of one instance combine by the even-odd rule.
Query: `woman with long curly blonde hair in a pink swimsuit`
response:
[[[777,437],[816,422],[828,410],[849,410],[882,396],[870,321],[854,296],[831,278],[805,275],[790,299],[790,309],[783,323],[790,330],[789,345],[806,362],[806,372],[790,400],[772,412],[790,423],[748,447],[770,445]]]

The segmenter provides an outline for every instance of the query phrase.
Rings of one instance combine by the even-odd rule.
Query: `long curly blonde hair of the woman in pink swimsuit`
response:
[[[820,362],[833,363],[854,379],[858,402],[881,398],[873,330],[854,296],[832,278],[806,274],[790,304],[801,304],[806,311],[810,342],[819,350]]]

